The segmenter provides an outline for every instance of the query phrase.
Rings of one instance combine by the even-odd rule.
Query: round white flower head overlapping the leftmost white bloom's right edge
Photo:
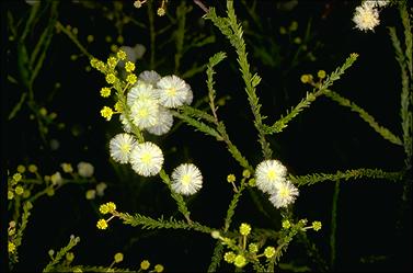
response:
[[[135,145],[130,152],[131,169],[140,175],[157,175],[163,164],[163,153],[157,145],[146,141]]]

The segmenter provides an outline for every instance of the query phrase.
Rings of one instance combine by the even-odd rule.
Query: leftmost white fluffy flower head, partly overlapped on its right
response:
[[[130,151],[136,144],[135,137],[129,134],[117,134],[110,141],[111,157],[119,163],[129,162]]]

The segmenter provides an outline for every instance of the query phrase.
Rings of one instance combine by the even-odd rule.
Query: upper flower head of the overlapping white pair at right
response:
[[[255,170],[256,187],[265,193],[272,193],[276,186],[286,180],[287,168],[278,160],[262,161]]]

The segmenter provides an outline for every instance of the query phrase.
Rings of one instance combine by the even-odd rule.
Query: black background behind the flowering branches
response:
[[[99,1],[97,1],[99,2]],[[180,1],[171,1],[169,12],[174,14]],[[187,1],[193,4],[192,1]],[[211,1],[205,1],[208,5]],[[146,8],[136,10],[124,1],[124,12],[136,20],[147,23]],[[214,3],[215,4],[215,3]],[[359,58],[346,73],[334,83],[333,90],[364,107],[382,126],[398,136],[402,136],[400,107],[400,71],[394,59],[390,36],[386,26],[395,25],[401,34],[399,14],[395,7],[380,12],[381,24],[375,32],[364,33],[354,29],[353,12],[356,1],[300,1],[288,10],[273,1],[257,1],[256,14],[261,26],[254,24],[243,4],[236,4],[239,20],[243,22],[246,50],[251,68],[263,78],[257,88],[262,113],[267,116],[266,124],[272,124],[287,110],[295,106],[305,96],[310,87],[299,80],[302,73],[316,75],[319,69],[328,73],[341,66],[351,53],[358,53]],[[104,18],[104,9],[113,8],[112,1],[100,3],[101,8],[87,9],[82,4],[61,2],[59,21],[79,29],[78,37],[85,43],[85,37],[93,34],[95,42],[88,45],[88,50],[101,59],[110,54],[110,44],[104,37],[116,37],[114,23]],[[5,9],[4,9],[5,8]],[[217,13],[223,15],[225,4],[216,3]],[[24,2],[7,1],[5,11],[15,18],[27,18],[30,5]],[[252,123],[242,79],[238,71],[236,54],[228,41],[211,25],[202,22],[203,11],[193,5],[186,19],[188,35],[205,32],[216,36],[214,44],[190,50],[182,60],[183,70],[194,60],[203,64],[218,50],[227,53],[228,58],[217,67],[217,98],[229,95],[226,105],[220,106],[219,117],[225,121],[232,141],[239,147],[252,166],[262,160],[256,130]],[[302,58],[292,62],[298,46],[279,34],[279,26],[288,27],[291,21],[298,22],[294,35],[303,36],[307,24],[311,21],[311,38],[308,48],[314,60]],[[24,20],[23,20],[24,21]],[[248,22],[246,22],[248,21]],[[4,22],[4,20],[3,20]],[[42,31],[42,22],[31,34]],[[156,18],[156,26],[162,29],[169,24],[167,18]],[[7,29],[8,30],[8,29]],[[18,75],[15,43],[8,41],[5,30],[5,61],[2,75]],[[125,45],[144,44],[149,50],[149,35],[145,30],[126,25]],[[159,45],[168,43],[171,32],[158,37]],[[156,68],[162,75],[173,73],[173,41],[169,46],[157,48],[157,58],[165,61]],[[269,53],[269,58],[262,57],[262,50]],[[71,60],[70,55],[79,54],[78,48],[64,34],[55,34],[45,60],[45,65],[35,82],[37,102],[48,110],[57,112],[57,120],[65,124],[62,129],[50,125],[47,139],[57,139],[60,146],[51,150],[49,143],[42,141],[37,125],[28,118],[31,112],[23,107],[18,116],[3,123],[2,140],[7,150],[2,153],[5,167],[12,172],[20,163],[36,163],[41,173],[51,174],[61,162],[89,161],[95,167],[99,181],[106,181],[108,189],[102,200],[93,202],[84,198],[88,186],[68,185],[53,197],[43,197],[35,203],[30,225],[20,249],[20,263],[16,271],[39,271],[48,262],[47,251],[64,247],[71,234],[81,237],[74,248],[74,264],[108,265],[114,253],[122,251],[125,268],[139,266],[142,259],[152,264],[162,263],[167,271],[206,271],[215,241],[209,236],[194,231],[180,230],[141,230],[113,220],[107,230],[97,230],[96,207],[113,201],[122,212],[139,213],[158,218],[174,216],[176,205],[168,189],[159,178],[145,179],[135,175],[128,167],[113,163],[108,156],[108,140],[122,128],[117,118],[110,123],[99,114],[105,101],[99,95],[104,86],[104,78],[96,71],[87,72],[88,58],[80,56]],[[2,58],[2,60],[4,60]],[[5,65],[4,65],[5,62]],[[137,62],[138,72],[149,68],[149,52]],[[182,72],[182,71],[181,71]],[[191,84],[195,101],[207,94],[206,75],[198,73],[186,81]],[[56,91],[54,86],[60,82]],[[2,114],[7,115],[19,100],[24,89],[21,86],[4,82],[2,88]],[[53,94],[53,95],[50,95]],[[205,105],[204,105],[205,106]],[[179,124],[175,121],[175,126]],[[204,175],[203,190],[188,200],[192,218],[211,227],[220,227],[231,198],[231,186],[226,177],[234,173],[241,177],[242,169],[231,158],[223,144],[209,136],[194,132],[186,125],[179,125],[173,134],[153,138],[165,155],[164,169],[170,173],[181,162],[196,163]],[[385,171],[399,171],[403,168],[402,147],[381,138],[357,114],[343,109],[328,98],[319,98],[288,127],[277,135],[268,137],[274,157],[284,162],[289,172],[303,175],[314,172],[334,173],[337,170],[357,168],[379,168]],[[3,143],[3,144],[4,144]],[[296,202],[297,218],[321,220],[323,229],[309,232],[309,238],[317,243],[323,259],[330,259],[330,221],[334,182],[326,181],[313,186],[300,189]],[[336,263],[332,271],[411,271],[411,194],[408,208],[401,202],[402,185],[386,180],[349,180],[341,184],[337,207]],[[271,217],[262,215],[255,207],[248,192],[242,196],[236,211],[232,228],[240,223],[251,223],[253,227],[279,228],[279,213],[271,207],[263,196],[262,202]],[[312,271],[320,270],[294,242],[282,262],[294,261],[308,265]],[[222,270],[231,270],[228,264]]]

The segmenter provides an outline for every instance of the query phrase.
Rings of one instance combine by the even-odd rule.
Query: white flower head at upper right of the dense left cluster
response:
[[[157,87],[159,90],[159,102],[165,107],[179,107],[188,100],[190,86],[174,75],[160,79]]]

